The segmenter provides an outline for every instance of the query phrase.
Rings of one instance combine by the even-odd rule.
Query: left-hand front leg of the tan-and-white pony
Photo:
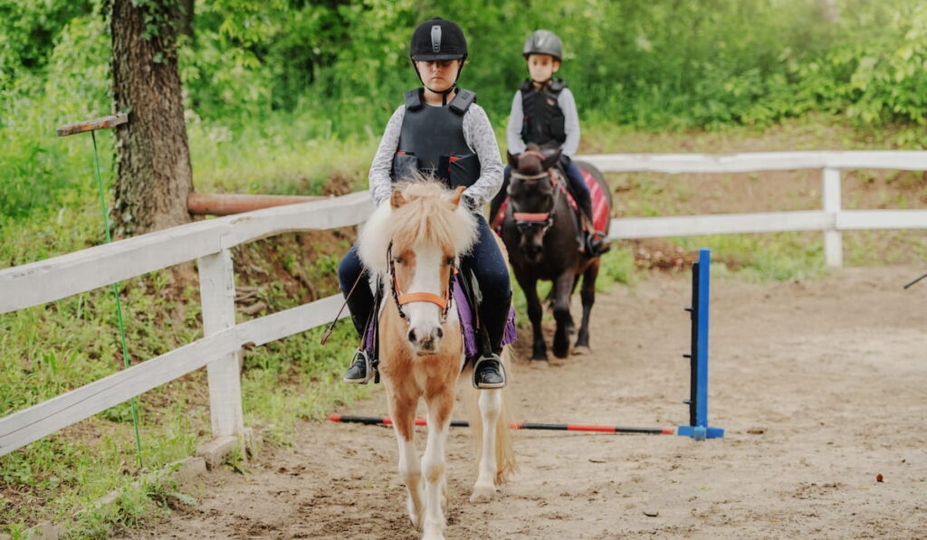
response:
[[[422,528],[422,470],[418,463],[418,452],[415,450],[415,406],[418,398],[403,396],[391,384],[385,381],[387,387],[387,400],[389,403],[389,416],[393,421],[393,431],[400,446],[400,476],[406,484],[409,495],[406,508],[409,519],[416,529]]]

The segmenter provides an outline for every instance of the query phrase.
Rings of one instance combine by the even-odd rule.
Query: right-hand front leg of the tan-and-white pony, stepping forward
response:
[[[428,405],[428,443],[422,458],[422,474],[425,476],[425,521],[422,540],[444,538],[444,499],[447,480],[444,458],[448,428],[451,427],[451,410],[454,407],[453,384],[444,387],[432,396],[425,396]]]

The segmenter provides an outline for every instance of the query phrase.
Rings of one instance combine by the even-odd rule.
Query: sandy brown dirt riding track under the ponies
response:
[[[521,472],[474,506],[454,431],[448,538],[927,538],[927,283],[902,290],[923,270],[714,280],[709,419],[724,439],[518,433]],[[684,423],[690,294],[679,274],[600,295],[592,355],[516,362],[516,418]],[[377,392],[337,412],[385,405]],[[197,509],[127,537],[415,537],[387,428],[307,423],[296,439],[248,475],[210,473],[190,488]]]

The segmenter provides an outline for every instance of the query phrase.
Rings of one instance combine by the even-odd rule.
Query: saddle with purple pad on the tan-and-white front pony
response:
[[[469,264],[462,264],[460,272],[454,276],[452,304],[457,309],[458,319],[460,320],[461,333],[464,335],[464,356],[467,361],[471,361],[479,356],[486,356],[490,351],[489,335],[479,320],[479,305],[482,303],[482,295],[479,292],[479,285],[476,283],[476,275]],[[374,295],[374,310],[371,311],[370,319],[367,320],[366,330],[363,335],[361,348],[371,358],[371,366],[375,371],[374,382],[380,382],[380,373],[377,370],[379,363],[379,351],[377,346],[378,339],[378,321],[377,316],[380,312],[380,306],[383,302],[383,294],[380,287]],[[513,344],[518,339],[518,331],[515,326],[515,310],[509,307],[509,317],[505,322],[505,331],[502,333],[502,345]],[[463,369],[463,366],[461,366]]]

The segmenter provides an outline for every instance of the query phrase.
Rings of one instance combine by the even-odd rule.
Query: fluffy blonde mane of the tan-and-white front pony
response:
[[[387,269],[387,245],[394,253],[421,245],[439,245],[460,257],[476,241],[476,220],[463,204],[453,207],[443,184],[433,179],[400,182],[394,186],[405,199],[393,208],[385,201],[364,225],[358,255],[368,269],[383,273]]]

